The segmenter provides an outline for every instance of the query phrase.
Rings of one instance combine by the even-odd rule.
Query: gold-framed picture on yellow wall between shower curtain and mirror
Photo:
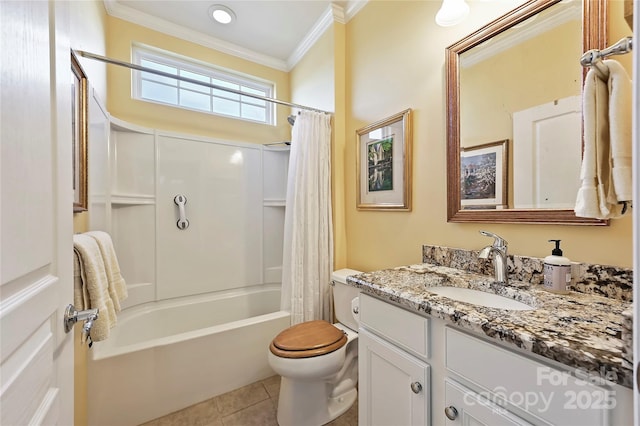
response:
[[[356,131],[358,210],[411,210],[411,109]]]

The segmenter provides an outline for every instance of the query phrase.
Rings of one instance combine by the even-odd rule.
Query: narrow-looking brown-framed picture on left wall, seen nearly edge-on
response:
[[[87,76],[71,51],[71,143],[73,146],[73,212],[87,210]]]

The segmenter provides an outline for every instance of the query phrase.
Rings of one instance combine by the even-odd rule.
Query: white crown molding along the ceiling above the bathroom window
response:
[[[226,53],[228,55],[236,56],[238,58],[246,59],[257,64],[268,66],[270,68],[275,68],[277,70],[286,72],[289,71],[287,63],[281,59],[277,59],[272,56],[264,55],[253,50],[246,49],[236,44],[220,40],[216,37],[205,35],[199,31],[194,31],[181,25],[176,25],[164,19],[156,18],[128,6],[122,5],[115,0],[103,0],[103,2],[107,13],[115,18],[133,22],[134,24],[141,25],[154,31],[178,37],[183,40]]]

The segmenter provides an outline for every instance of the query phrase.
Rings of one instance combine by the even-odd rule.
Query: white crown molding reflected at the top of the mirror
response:
[[[511,28],[517,28],[518,31],[503,32],[499,38],[494,39],[491,43],[482,45],[481,49],[474,49],[476,51],[469,51],[462,55],[460,66],[462,68],[473,66],[566,22],[576,19],[581,20],[581,7],[580,2],[570,2],[568,6],[562,8],[559,12],[547,14],[544,19],[534,19],[529,23],[524,21],[514,25]]]

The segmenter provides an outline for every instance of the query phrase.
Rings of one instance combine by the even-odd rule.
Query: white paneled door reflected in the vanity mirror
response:
[[[513,114],[513,203],[516,209],[571,208],[580,187],[580,96]],[[562,182],[562,185],[558,185]]]

